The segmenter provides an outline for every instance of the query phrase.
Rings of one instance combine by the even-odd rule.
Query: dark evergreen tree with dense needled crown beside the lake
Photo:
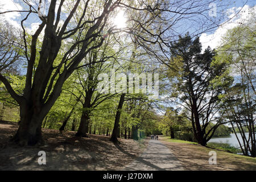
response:
[[[171,97],[191,112],[193,133],[197,142],[205,146],[214,131],[224,123],[221,118],[218,96],[222,93],[219,85],[212,81],[226,71],[225,64],[213,64],[216,53],[208,47],[201,53],[199,38],[192,40],[187,34],[172,44],[172,57],[168,77],[171,80]],[[172,63],[176,61],[176,66]],[[180,68],[177,66],[180,65]],[[209,123],[214,126],[207,131]]]

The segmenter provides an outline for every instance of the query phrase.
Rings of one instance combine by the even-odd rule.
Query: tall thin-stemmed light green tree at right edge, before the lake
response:
[[[253,157],[256,156],[254,50],[254,18],[229,30],[222,40],[222,47],[218,49],[222,57],[232,57],[229,75],[233,76],[233,84],[227,85],[221,96],[223,108],[227,110],[225,116],[229,119],[243,154]],[[220,81],[221,78],[217,83]],[[238,138],[237,133],[241,134],[242,139]]]

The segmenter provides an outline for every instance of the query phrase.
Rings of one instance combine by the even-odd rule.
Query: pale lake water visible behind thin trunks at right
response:
[[[245,133],[246,134],[246,138],[249,137],[249,133]],[[237,137],[239,138],[240,140],[240,143],[242,144],[242,137],[241,137],[241,134],[237,134]],[[239,143],[238,143],[238,140],[236,138],[236,135],[235,134],[230,134],[230,137],[216,137],[216,138],[212,138],[209,140],[209,142],[214,142],[214,143],[228,143],[230,144],[230,146],[233,146],[233,147],[240,147],[239,146]],[[243,144],[242,144],[243,146]]]

